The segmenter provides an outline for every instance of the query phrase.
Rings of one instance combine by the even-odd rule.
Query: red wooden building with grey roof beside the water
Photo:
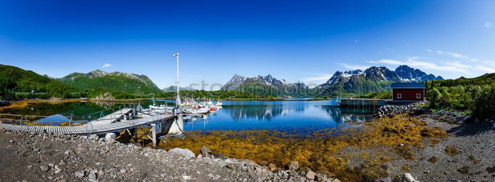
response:
[[[392,83],[392,100],[398,102],[424,101],[425,89],[423,83]]]

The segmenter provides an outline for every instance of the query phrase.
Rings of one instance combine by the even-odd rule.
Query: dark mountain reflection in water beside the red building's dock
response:
[[[335,122],[342,123],[347,120],[352,121],[362,121],[366,119],[372,119],[373,109],[362,109],[362,108],[337,108],[330,105],[316,106],[324,110],[330,115]]]

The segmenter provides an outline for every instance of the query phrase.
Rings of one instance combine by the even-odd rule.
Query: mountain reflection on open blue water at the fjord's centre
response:
[[[304,111],[305,107],[291,107],[285,105],[229,105],[222,107],[229,110],[234,120],[254,118],[256,120],[271,120],[278,116],[284,116],[288,112]]]

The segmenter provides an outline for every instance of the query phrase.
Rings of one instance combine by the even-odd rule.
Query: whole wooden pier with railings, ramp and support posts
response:
[[[104,111],[111,111],[110,114],[104,115]],[[102,135],[127,131],[136,140],[148,136],[152,140],[153,146],[156,146],[156,135],[176,135],[183,133],[183,116],[182,114],[159,114],[149,115],[148,117],[139,118],[139,114],[144,115],[136,109],[135,106],[125,105],[111,109],[105,109],[92,114],[83,116],[82,121],[72,121],[70,116],[68,121],[57,121],[58,123],[69,123],[69,126],[39,126],[35,122],[28,120],[28,116],[14,114],[0,114],[0,127],[7,130],[15,130],[21,132],[46,132],[58,134],[78,134],[78,135]],[[90,115],[100,115],[96,120],[85,120]],[[88,117],[87,117],[88,116]],[[8,117],[8,118],[2,118]],[[12,119],[12,118],[17,119]],[[45,117],[52,116],[29,116],[29,117]],[[72,123],[72,124],[71,124]],[[78,125],[81,123],[83,125]],[[141,127],[148,127],[149,130],[144,130]],[[141,130],[142,132],[138,132]],[[139,135],[142,133],[141,135]],[[152,136],[149,136],[151,134]]]

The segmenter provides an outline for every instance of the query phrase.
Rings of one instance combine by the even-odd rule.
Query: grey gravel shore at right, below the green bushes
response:
[[[406,165],[416,180],[425,182],[446,182],[446,179],[495,182],[495,130],[488,125],[439,122],[434,115],[418,117],[428,123],[428,127],[442,127],[449,136],[433,146],[424,140],[424,148],[413,149],[416,160],[399,158],[388,162],[389,174],[401,175],[404,171],[400,168]],[[454,148],[458,154],[447,152],[447,146]],[[432,157],[436,161],[428,161]]]

